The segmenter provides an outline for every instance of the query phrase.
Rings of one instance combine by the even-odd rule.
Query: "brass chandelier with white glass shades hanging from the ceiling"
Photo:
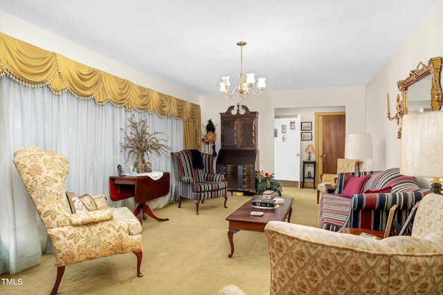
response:
[[[264,82],[266,80],[266,78],[258,78],[257,79],[258,80],[257,88],[260,91],[260,93],[255,93],[253,91],[253,86],[255,83],[255,73],[247,73],[246,74],[246,82],[243,82],[243,77],[244,77],[244,73],[243,73],[243,46],[246,45],[246,42],[245,41],[238,41],[237,45],[240,46],[240,73],[238,74],[240,77],[240,82],[239,82],[238,86],[235,86],[234,90],[231,93],[229,93],[228,92],[229,86],[230,86],[229,76],[221,77],[220,91],[222,93],[224,93],[225,98],[230,98],[231,96],[233,96],[235,91],[237,91],[237,93],[242,95],[243,98],[245,98],[246,95],[248,95],[249,93],[253,93],[253,95],[258,96],[258,95],[262,94],[262,91],[266,87],[266,84]]]

